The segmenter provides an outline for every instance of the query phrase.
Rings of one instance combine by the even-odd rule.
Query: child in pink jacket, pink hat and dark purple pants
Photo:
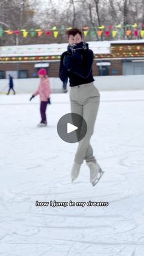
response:
[[[49,78],[48,78],[48,76],[46,76],[45,68],[41,68],[37,74],[40,78],[40,84],[39,84],[36,92],[32,95],[32,97],[29,100],[31,101],[32,98],[34,98],[38,94],[40,95],[41,122],[38,124],[38,126],[43,127],[43,126],[47,125],[46,107],[47,107],[47,104],[50,104],[49,95],[51,93],[51,87],[49,85]]]

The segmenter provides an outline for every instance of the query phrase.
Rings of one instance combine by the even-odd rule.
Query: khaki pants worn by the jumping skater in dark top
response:
[[[90,138],[93,134],[96,115],[98,113],[99,97],[98,89],[96,89],[93,82],[71,87],[70,90],[71,112],[84,117],[87,123],[87,133],[79,141],[74,158],[77,164],[82,164],[84,159],[87,162],[96,163],[95,156],[93,156],[93,149],[90,145]]]

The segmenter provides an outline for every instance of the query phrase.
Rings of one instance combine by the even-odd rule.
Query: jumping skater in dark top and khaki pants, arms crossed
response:
[[[90,169],[90,182],[92,185],[95,185],[98,175],[103,171],[96,162],[92,146],[90,145],[100,97],[98,89],[93,84],[93,51],[88,48],[88,43],[83,42],[80,29],[70,29],[67,31],[67,35],[69,44],[67,51],[61,56],[59,77],[62,81],[69,78],[71,112],[84,117],[87,123],[87,133],[79,141],[74,158],[71,180],[76,180],[85,159]]]

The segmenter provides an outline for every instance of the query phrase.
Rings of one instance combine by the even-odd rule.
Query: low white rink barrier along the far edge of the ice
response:
[[[95,86],[99,90],[143,90],[144,75],[131,76],[95,76]],[[49,78],[52,93],[62,93],[62,81],[59,78]],[[14,88],[18,93],[33,93],[40,82],[39,78],[13,79]],[[0,79],[0,92],[5,85],[9,84],[8,79]],[[2,93],[7,92],[8,86]],[[70,87],[68,86],[68,90]]]

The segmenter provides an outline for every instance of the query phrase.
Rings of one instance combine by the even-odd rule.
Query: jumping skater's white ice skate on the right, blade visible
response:
[[[90,168],[90,182],[95,186],[104,172],[98,163],[88,162],[87,165]]]

